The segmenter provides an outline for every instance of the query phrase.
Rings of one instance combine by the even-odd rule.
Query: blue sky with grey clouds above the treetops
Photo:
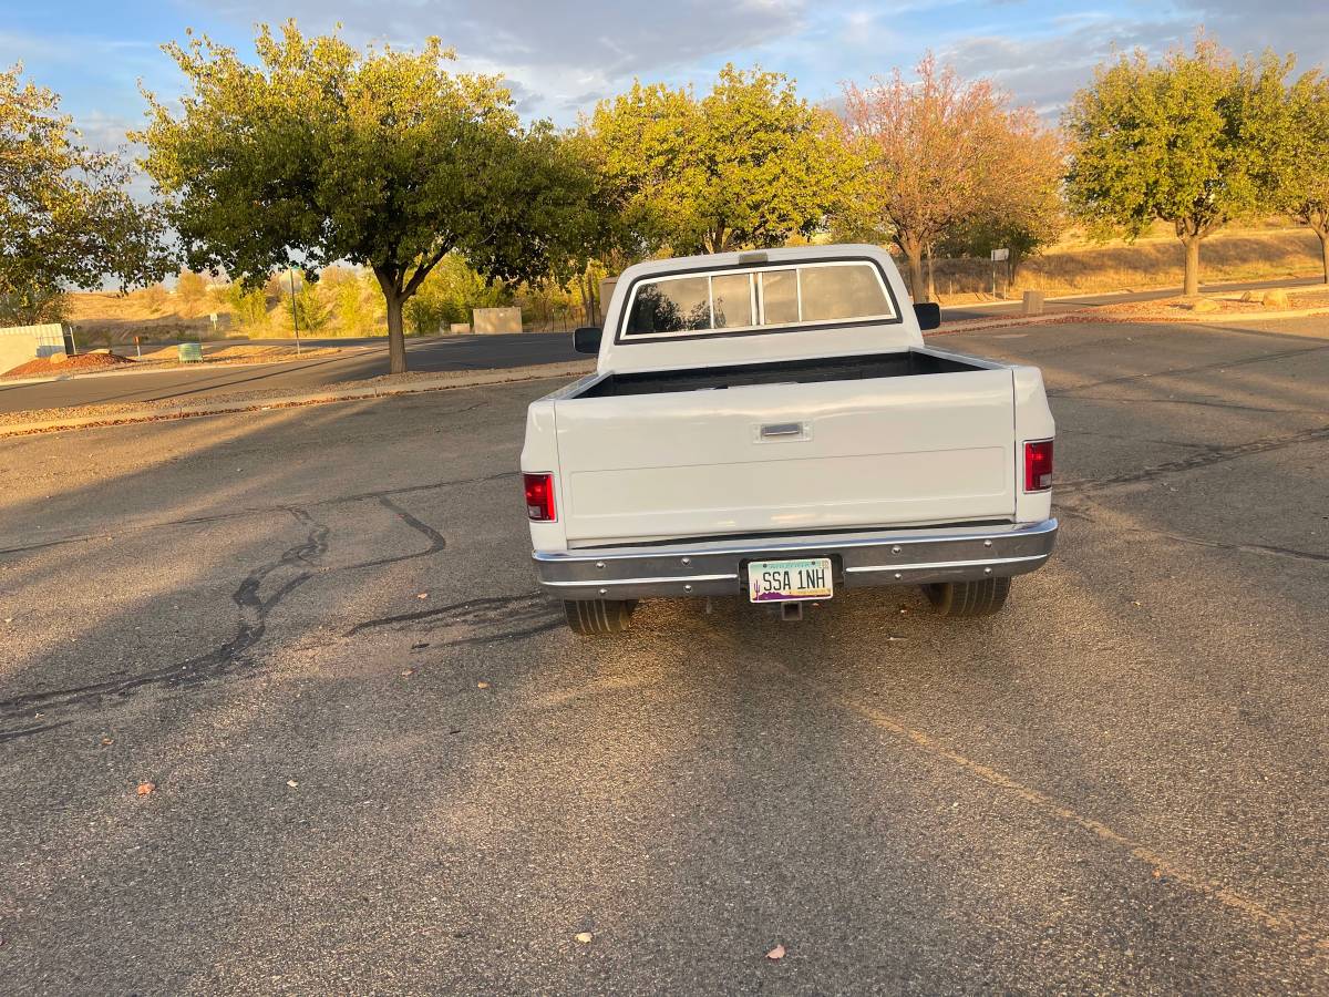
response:
[[[340,23],[355,43],[436,35],[459,70],[502,73],[524,117],[560,125],[634,77],[704,89],[726,62],[760,64],[824,102],[929,49],[1055,121],[1114,47],[1160,53],[1199,25],[1237,53],[1329,66],[1329,0],[0,0],[0,62],[21,61],[90,144],[114,148],[144,120],[140,81],[181,92],[162,43],[193,28],[253,56],[254,24],[287,17],[307,33]]]

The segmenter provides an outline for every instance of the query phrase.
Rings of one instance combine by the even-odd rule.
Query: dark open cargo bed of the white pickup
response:
[[[570,397],[627,397],[676,391],[722,391],[754,384],[816,384],[819,382],[913,378],[928,374],[982,371],[986,367],[956,356],[918,350],[868,356],[750,363],[684,371],[609,374]]]

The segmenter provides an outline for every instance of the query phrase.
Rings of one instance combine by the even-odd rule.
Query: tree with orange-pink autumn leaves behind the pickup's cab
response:
[[[844,88],[845,140],[865,167],[837,230],[894,242],[924,300],[922,257],[946,239],[1007,246],[1017,266],[1055,239],[1061,162],[1057,137],[991,82],[932,55],[914,72]]]

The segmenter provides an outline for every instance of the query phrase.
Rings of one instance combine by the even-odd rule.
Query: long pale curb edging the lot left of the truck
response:
[[[591,360],[577,363],[545,364],[540,367],[513,367],[510,370],[478,371],[469,376],[431,378],[400,386],[365,386],[363,388],[338,388],[336,391],[314,391],[300,395],[278,395],[262,399],[237,399],[233,401],[213,401],[210,404],[187,405],[182,408],[144,408],[137,412],[108,412],[105,415],[77,416],[73,419],[51,419],[40,423],[0,424],[0,437],[25,436],[29,433],[57,429],[77,429],[93,425],[124,425],[129,423],[155,423],[167,419],[190,419],[194,416],[227,415],[233,412],[259,412],[268,408],[294,408],[296,405],[322,405],[332,401],[359,401],[393,395],[416,395],[425,391],[447,391],[449,388],[477,388],[486,384],[513,384],[529,380],[549,380],[553,378],[579,378],[594,367]]]

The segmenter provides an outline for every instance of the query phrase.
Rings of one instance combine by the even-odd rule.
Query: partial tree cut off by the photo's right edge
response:
[[[1320,237],[1329,284],[1329,77],[1305,73],[1288,94],[1286,144],[1278,157],[1278,198]]]

